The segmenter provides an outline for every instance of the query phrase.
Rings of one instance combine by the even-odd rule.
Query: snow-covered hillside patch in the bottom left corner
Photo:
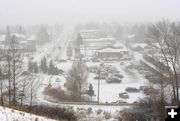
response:
[[[0,106],[0,121],[55,121],[55,120]]]

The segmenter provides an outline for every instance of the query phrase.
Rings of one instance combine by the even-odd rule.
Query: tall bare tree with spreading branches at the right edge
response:
[[[149,28],[148,34],[148,37],[156,42],[156,44],[152,45],[159,51],[159,54],[162,55],[156,59],[159,59],[158,61],[167,66],[167,70],[164,70],[161,73],[164,74],[166,71],[168,73],[175,103],[179,103],[179,84],[177,74],[180,69],[177,68],[179,63],[178,53],[180,49],[180,44],[178,42],[179,35],[177,25],[165,20],[153,24]]]

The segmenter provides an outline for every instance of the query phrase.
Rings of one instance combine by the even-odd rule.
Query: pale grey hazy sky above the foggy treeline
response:
[[[180,20],[180,0],[0,0],[0,25]]]

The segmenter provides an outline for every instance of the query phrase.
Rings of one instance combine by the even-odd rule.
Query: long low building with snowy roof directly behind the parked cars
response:
[[[124,47],[105,47],[96,51],[96,57],[102,60],[130,59],[129,50]]]

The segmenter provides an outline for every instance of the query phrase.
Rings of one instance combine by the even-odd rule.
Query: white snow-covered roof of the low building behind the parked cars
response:
[[[126,48],[113,48],[113,47],[107,47],[104,49],[100,49],[97,52],[122,52],[122,51],[128,51]]]

